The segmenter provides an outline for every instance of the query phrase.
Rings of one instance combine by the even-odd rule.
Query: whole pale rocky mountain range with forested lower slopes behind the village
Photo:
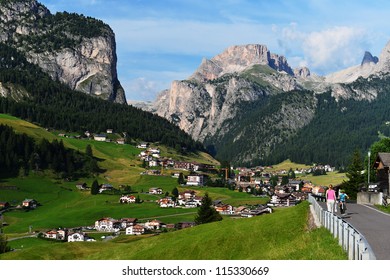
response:
[[[389,44],[379,59],[366,52],[361,65],[325,77],[308,68],[292,69],[285,57],[272,54],[264,45],[232,46],[203,59],[188,79],[173,81],[151,110],[203,142],[218,159],[233,164],[267,164],[294,157],[296,162],[344,165],[353,149],[364,151],[378,130],[387,130],[382,126],[386,118],[382,109],[388,102],[382,98],[380,115],[370,112],[369,121],[360,116],[370,105],[377,106],[379,95],[387,94],[389,73]],[[367,124],[360,134],[351,125],[353,118]],[[345,129],[344,135],[337,124]],[[311,142],[302,141],[302,131],[312,133]],[[323,135],[325,131],[328,135]],[[350,146],[340,151],[343,146],[336,138],[344,138],[348,131],[356,138],[351,137]],[[319,138],[327,141],[320,141],[324,151],[312,145]]]

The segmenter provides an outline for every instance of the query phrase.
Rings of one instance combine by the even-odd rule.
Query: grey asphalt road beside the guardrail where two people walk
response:
[[[340,211],[336,215],[341,216]],[[343,219],[364,235],[377,260],[390,260],[390,214],[370,205],[347,203]]]

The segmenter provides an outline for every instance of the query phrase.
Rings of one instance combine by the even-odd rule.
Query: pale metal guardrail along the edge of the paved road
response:
[[[375,260],[375,254],[363,234],[340,217],[324,210],[317,201],[323,199],[324,197],[309,195],[309,202],[317,219],[339,240],[340,246],[348,253],[348,259]]]

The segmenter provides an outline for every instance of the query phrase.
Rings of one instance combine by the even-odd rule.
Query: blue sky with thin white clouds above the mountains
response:
[[[263,44],[291,67],[326,75],[374,56],[390,40],[390,1],[38,0],[110,25],[128,100],[153,101],[202,58],[232,45]]]

